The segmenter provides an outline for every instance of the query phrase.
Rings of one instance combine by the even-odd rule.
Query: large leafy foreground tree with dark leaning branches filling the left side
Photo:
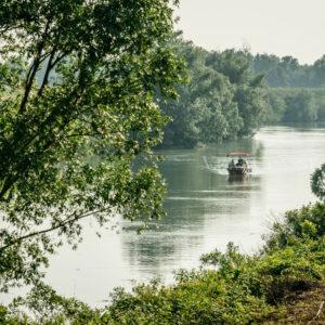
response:
[[[161,214],[150,161],[182,64],[166,0],[0,3],[0,290],[41,276],[81,220]],[[55,232],[55,235],[53,233]]]

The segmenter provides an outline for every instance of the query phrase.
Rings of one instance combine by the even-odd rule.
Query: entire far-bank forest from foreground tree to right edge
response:
[[[187,66],[179,99],[156,96],[170,118],[162,147],[248,138],[275,122],[325,121],[325,55],[313,65],[246,50],[207,51],[174,39]]]

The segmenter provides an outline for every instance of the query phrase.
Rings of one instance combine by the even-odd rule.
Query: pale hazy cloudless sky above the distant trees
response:
[[[325,54],[325,0],[181,0],[178,29],[208,50],[249,47],[313,63]]]

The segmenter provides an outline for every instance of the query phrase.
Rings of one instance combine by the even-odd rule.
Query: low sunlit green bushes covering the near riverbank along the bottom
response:
[[[325,165],[312,181],[320,198],[324,198],[324,176]],[[62,298],[39,283],[25,299],[1,308],[0,320],[5,324],[278,324],[290,316],[287,307],[301,292],[323,299],[317,288],[325,284],[325,203],[288,211],[255,256],[242,255],[229,244],[224,253],[216,250],[202,261],[209,268],[182,270],[172,286],[157,280],[135,286],[132,292],[118,288],[102,310]],[[303,303],[312,302],[320,306],[322,300]],[[26,307],[35,323],[24,314]],[[307,322],[316,312],[300,310],[298,316]],[[299,324],[299,318],[294,321]]]

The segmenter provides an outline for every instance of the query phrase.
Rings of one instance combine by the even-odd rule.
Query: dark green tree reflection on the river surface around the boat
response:
[[[226,153],[238,148],[253,154],[250,164],[255,174],[234,182],[227,177]],[[141,236],[130,229],[122,234],[129,263],[147,277],[171,275],[167,270],[197,265],[200,253],[218,243],[225,245],[230,234],[244,238],[246,232],[251,236],[248,229],[255,220],[249,221],[249,216],[256,200],[262,199],[257,174],[262,153],[262,143],[251,140],[159,153],[165,156],[160,169],[169,187],[167,217]]]

